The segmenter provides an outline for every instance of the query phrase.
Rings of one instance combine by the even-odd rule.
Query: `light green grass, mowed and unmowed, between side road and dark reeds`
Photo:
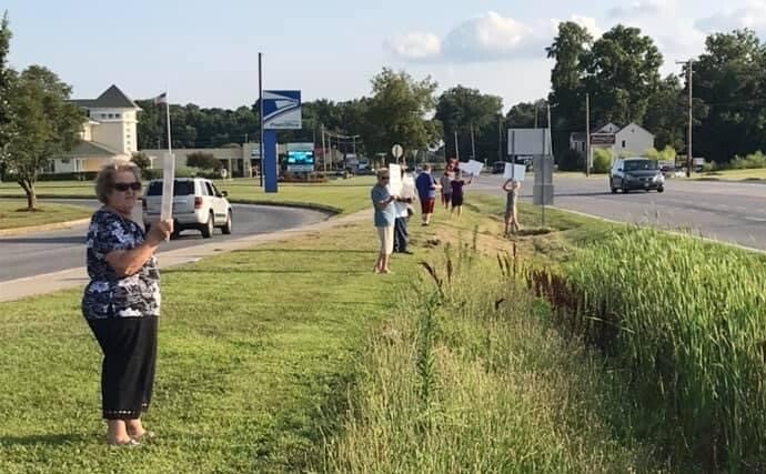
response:
[[[0,472],[654,471],[604,361],[498,270],[501,205],[476,198],[460,221],[413,221],[419,256],[395,256],[384,278],[370,222],[163,272],[145,418],[159,437],[133,451],[104,446],[80,292],[0,304],[0,385],[12,387]],[[461,241],[476,252],[446,251]],[[429,322],[434,283],[419,261],[444,279],[447,254],[454,280]]]

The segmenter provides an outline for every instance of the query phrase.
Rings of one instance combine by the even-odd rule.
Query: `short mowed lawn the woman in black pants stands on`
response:
[[[80,291],[0,304],[0,472],[260,473],[319,465],[354,359],[407,285],[370,223],[163,272],[155,442],[105,446]]]

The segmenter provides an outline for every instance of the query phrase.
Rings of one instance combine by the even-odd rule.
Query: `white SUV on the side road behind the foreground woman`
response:
[[[232,212],[226,200],[226,192],[221,192],[210,180],[202,178],[177,178],[173,183],[173,221],[174,234],[187,229],[202,232],[210,239],[215,228],[224,234],[231,234]],[[143,194],[143,225],[149,231],[149,223],[160,219],[162,206],[162,180],[152,180]]]

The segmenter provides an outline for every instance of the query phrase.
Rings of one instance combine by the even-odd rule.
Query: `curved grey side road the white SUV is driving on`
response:
[[[97,209],[97,201],[54,201]],[[163,251],[189,248],[201,243],[225,241],[244,235],[270,233],[323,221],[325,213],[294,208],[233,204],[234,231],[231,235],[215,230],[213,238],[202,239],[199,232],[184,231],[179,239],[162,245]],[[138,206],[134,219],[141,221]],[[63,231],[0,238],[0,282],[84,266],[87,225]],[[0,292],[2,285],[0,284]]]

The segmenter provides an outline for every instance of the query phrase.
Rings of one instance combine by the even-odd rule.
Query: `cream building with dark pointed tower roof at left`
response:
[[[85,120],[78,147],[52,160],[51,172],[73,173],[98,171],[113,159],[129,159],[138,151],[135,104],[117,85],[107,89],[97,99],[78,99],[72,103],[82,108]]]

